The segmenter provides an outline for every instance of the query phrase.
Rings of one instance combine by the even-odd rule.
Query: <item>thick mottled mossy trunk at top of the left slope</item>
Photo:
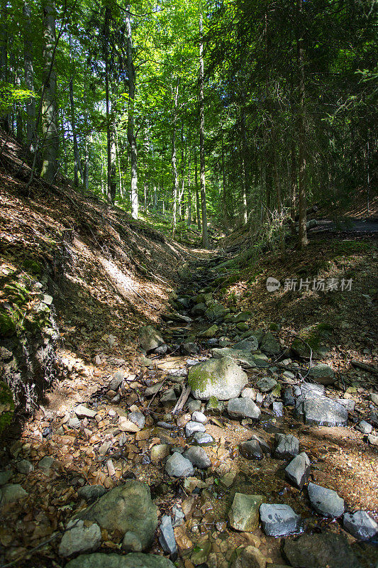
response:
[[[57,129],[57,74],[52,64],[55,48],[55,2],[43,3],[43,82],[42,104],[43,155],[41,178],[51,183],[57,175],[59,136]]]

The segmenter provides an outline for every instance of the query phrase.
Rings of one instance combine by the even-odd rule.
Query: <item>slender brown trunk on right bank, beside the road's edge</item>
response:
[[[298,114],[298,161],[299,161],[299,248],[302,249],[308,244],[306,230],[306,157],[305,157],[305,138],[306,130],[304,125],[304,47],[303,34],[303,0],[297,0],[298,36],[297,36],[297,60],[299,71],[299,114]]]

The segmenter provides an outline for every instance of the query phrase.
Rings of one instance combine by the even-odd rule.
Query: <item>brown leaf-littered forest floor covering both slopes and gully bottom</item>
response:
[[[80,490],[99,485],[110,493],[129,479],[148,484],[159,517],[184,514],[174,528],[179,567],[234,567],[235,550],[247,545],[260,551],[259,566],[289,562],[283,548],[290,538],[267,536],[260,526],[252,531],[230,526],[231,503],[235,493],[243,493],[291,506],[304,519],[306,534],[342,535],[347,556],[353,558],[343,566],[375,568],[377,542],[363,543],[343,530],[340,519],[316,515],[306,489],[285,479],[287,460],[246,459],[239,452],[240,442],[252,435],[272,448],[277,432],[294,434],[311,460],[311,481],[334,489],[349,511],[367,510],[378,519],[378,417],[372,400],[378,393],[374,235],[319,238],[303,252],[289,248],[260,256],[250,256],[242,238],[224,241],[217,251],[189,250],[71,187],[50,188],[36,181],[24,192],[27,166],[20,168],[16,146],[11,154],[12,148],[1,170],[1,271],[15,280],[40,279],[43,291],[53,297],[60,343],[57,378],[35,415],[22,422],[21,431],[6,432],[1,444],[1,484],[6,480],[26,491],[18,501],[1,503],[1,568],[65,566],[60,540],[74,513],[86,506]],[[37,265],[30,260],[43,270],[33,273],[30,266]],[[268,277],[281,283],[275,292],[267,290]],[[333,279],[338,289],[312,290],[313,278],[326,283]],[[350,290],[340,290],[343,278],[352,279]],[[308,290],[303,285],[307,279]],[[296,289],[285,289],[285,280],[296,280]],[[231,314],[250,315],[244,327],[218,322],[213,337],[206,339],[201,336],[211,326],[206,318],[184,322],[174,316],[172,322],[174,290],[190,305],[204,290]],[[8,300],[3,290],[1,302]],[[36,302],[31,291],[28,309]],[[193,317],[188,310],[180,311]],[[177,311],[176,304],[173,314]],[[148,323],[160,330],[170,352],[145,357],[138,331]],[[205,430],[213,438],[204,447],[211,465],[185,479],[169,476],[169,452],[191,444],[185,435],[191,418],[187,406],[172,413],[187,386],[189,368],[209,359],[221,338],[232,345],[258,329],[272,332],[280,346],[279,354],[269,356],[269,367],[245,369],[248,386],[261,395],[260,421],[241,421],[226,412],[214,415],[202,404],[208,418]],[[309,361],[289,351],[298,336],[311,342],[314,355],[319,352],[316,364],[335,371],[327,395],[355,403],[348,425],[306,425],[290,405],[279,417],[269,395],[259,393],[257,382],[267,375],[282,389],[303,382]],[[179,346],[186,342],[194,342],[199,351],[183,355]],[[277,366],[282,362],[284,367]],[[289,369],[294,372],[284,376]],[[88,412],[80,413],[78,405]],[[142,427],[128,420],[130,412],[143,414]],[[370,439],[357,429],[361,420],[372,424]],[[121,544],[117,531],[101,530],[98,552],[119,553]],[[163,554],[159,531],[149,552]],[[340,567],[338,552],[333,552],[330,568]]]

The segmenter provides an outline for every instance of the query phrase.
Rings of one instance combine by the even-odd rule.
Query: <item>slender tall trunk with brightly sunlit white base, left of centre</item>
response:
[[[138,153],[134,133],[135,69],[131,35],[130,4],[126,6],[126,38],[128,66],[128,143],[131,151],[131,215],[138,219]]]

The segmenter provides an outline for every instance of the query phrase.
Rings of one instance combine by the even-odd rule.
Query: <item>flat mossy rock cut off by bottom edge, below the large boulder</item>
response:
[[[81,555],[66,564],[66,568],[174,568],[167,558],[157,555],[130,553],[120,556],[114,553]]]

